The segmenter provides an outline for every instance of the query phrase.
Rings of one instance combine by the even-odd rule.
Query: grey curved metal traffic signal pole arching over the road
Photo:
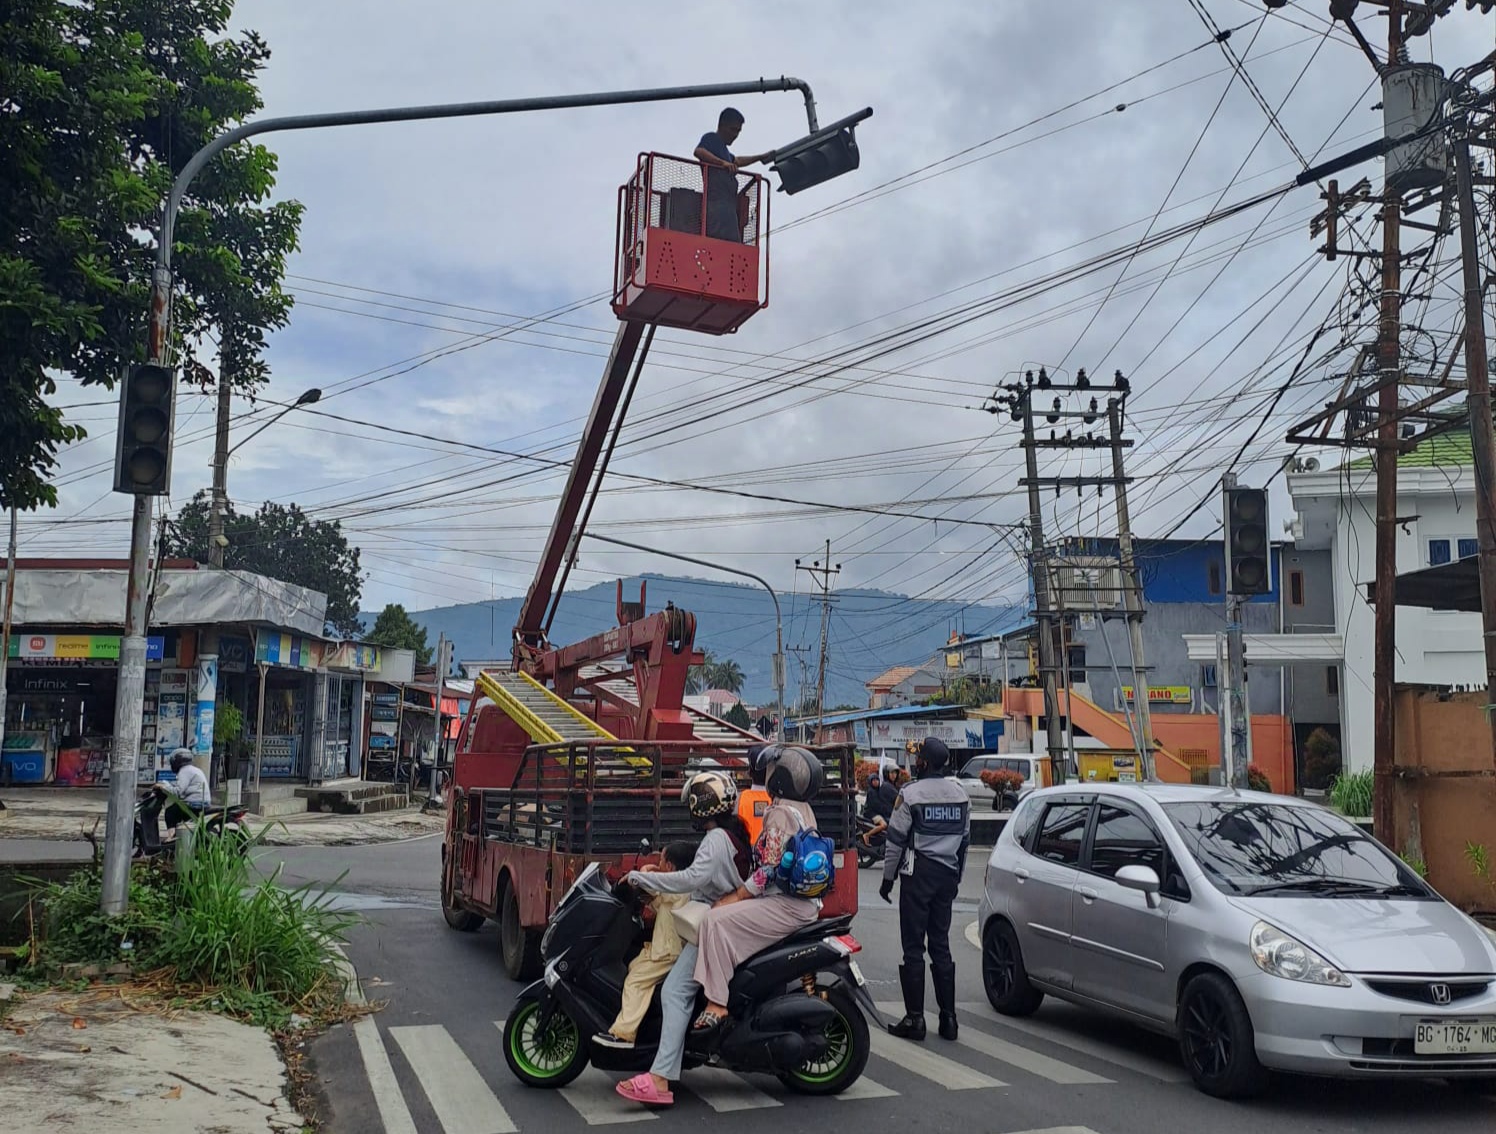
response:
[[[803,79],[788,76],[696,87],[558,94],[540,99],[500,99],[434,106],[343,111],[337,114],[301,114],[265,118],[227,130],[188,159],[172,183],[172,191],[166,199],[162,232],[156,241],[156,271],[151,274],[147,361],[165,365],[171,355],[172,241],[183,199],[197,174],[235,142],[263,133],[316,130],[329,126],[477,118],[495,114],[561,111],[582,106],[619,106],[640,102],[676,102],[682,99],[720,99],[732,94],[767,94],[770,91],[797,91],[805,99],[805,120],[809,133],[817,135],[820,132],[811,85]],[[871,111],[866,114],[871,114]],[[862,117],[866,117],[866,114]],[[109,814],[105,823],[103,893],[100,901],[100,908],[106,914],[123,914],[129,899],[135,770],[141,756],[141,715],[145,708],[145,612],[150,589],[150,552],[151,497],[136,494],[135,515],[130,524],[130,579],[124,603],[124,637],[120,640],[120,684],[114,705],[114,751],[109,757]]]

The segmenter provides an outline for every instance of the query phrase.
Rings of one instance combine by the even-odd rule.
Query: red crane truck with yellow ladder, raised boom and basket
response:
[[[642,841],[687,836],[681,788],[703,761],[747,784],[752,733],[687,708],[696,616],[667,603],[646,613],[645,588],[618,625],[568,646],[549,640],[655,326],[709,334],[767,304],[763,178],[738,175],[742,241],[706,235],[699,163],[643,154],[619,190],[613,310],[622,320],[603,381],[519,610],[513,664],[476,679],[447,790],[441,908],[447,925],[500,925],[504,968],[539,975],[540,937],[555,904],[588,863],[630,869]],[[857,908],[853,751],[826,748],[815,800],[841,869],[823,917]]]

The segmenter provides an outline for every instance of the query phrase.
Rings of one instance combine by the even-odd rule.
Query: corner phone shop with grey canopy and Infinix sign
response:
[[[7,646],[0,781],[108,782],[126,564],[19,560]],[[410,681],[407,649],[320,637],[326,597],[265,576],[168,560],[156,580],[147,652],[142,782],[169,778],[188,748],[215,782],[244,776],[259,753],[265,779],[358,775],[367,750],[365,676]],[[227,712],[236,709],[238,714]],[[223,718],[242,715],[236,735]],[[238,721],[235,721],[238,724]],[[235,754],[223,769],[215,756]]]

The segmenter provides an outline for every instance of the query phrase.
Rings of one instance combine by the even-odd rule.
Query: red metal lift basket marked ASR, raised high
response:
[[[769,305],[764,180],[640,154],[618,190],[613,313],[726,335]]]

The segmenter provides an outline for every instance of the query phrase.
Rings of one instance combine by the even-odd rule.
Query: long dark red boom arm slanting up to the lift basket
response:
[[[576,459],[567,474],[561,503],[557,506],[557,515],[551,524],[551,534],[546,536],[545,548],[540,552],[536,577],[519,607],[519,618],[515,622],[515,669],[519,669],[525,660],[533,661],[539,652],[546,649],[546,627],[549,625],[546,610],[558,597],[555,595],[557,577],[561,574],[577,518],[586,503],[588,485],[591,485],[597,462],[603,455],[607,431],[613,426],[619,401],[628,387],[628,374],[633,370],[643,334],[645,323],[630,320],[618,325],[613,350],[607,356],[607,370],[603,373],[603,383],[597,387],[597,398],[592,401],[592,411],[582,431],[582,443],[577,446]]]

